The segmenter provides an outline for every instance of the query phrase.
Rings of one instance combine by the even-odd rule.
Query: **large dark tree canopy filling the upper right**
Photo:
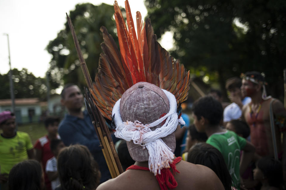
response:
[[[155,34],[174,33],[171,54],[191,72],[208,75],[224,89],[227,78],[257,70],[265,73],[272,95],[282,94],[285,1],[146,0],[145,5]]]

